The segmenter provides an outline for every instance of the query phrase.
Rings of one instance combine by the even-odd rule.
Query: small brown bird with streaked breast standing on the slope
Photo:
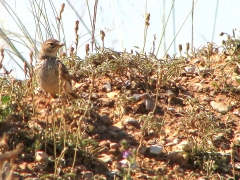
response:
[[[66,66],[57,59],[58,50],[64,45],[56,39],[48,39],[42,44],[39,62],[35,67],[36,77],[41,89],[52,98],[56,94],[65,93],[71,99],[77,99],[79,96],[72,89],[73,77]]]

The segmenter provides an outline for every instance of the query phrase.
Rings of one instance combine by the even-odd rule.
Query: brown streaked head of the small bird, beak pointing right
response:
[[[56,39],[48,39],[42,44],[40,54],[41,56],[56,57],[58,50],[64,45]]]

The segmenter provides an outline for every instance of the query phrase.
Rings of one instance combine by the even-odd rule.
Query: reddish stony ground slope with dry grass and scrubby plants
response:
[[[47,108],[33,68],[24,81],[6,70],[2,178],[239,178],[238,42],[191,53],[188,44],[164,59],[86,46],[83,60],[72,49],[60,56],[81,98],[59,95]]]

